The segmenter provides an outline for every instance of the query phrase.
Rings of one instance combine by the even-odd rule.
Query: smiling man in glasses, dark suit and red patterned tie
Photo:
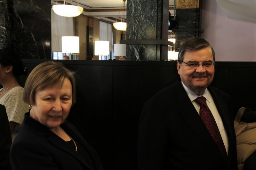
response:
[[[237,169],[230,97],[209,86],[214,61],[214,50],[203,38],[181,46],[180,80],[148,100],[140,117],[140,170]]]

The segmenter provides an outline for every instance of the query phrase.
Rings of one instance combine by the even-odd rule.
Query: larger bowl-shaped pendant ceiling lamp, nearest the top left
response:
[[[60,16],[63,16],[63,17],[76,17],[76,16],[80,15],[84,11],[83,7],[73,5],[73,1],[72,0],[71,0],[71,5],[68,5],[68,2],[65,5],[65,1],[66,0],[64,0],[63,5],[57,5],[58,1],[56,1],[56,5],[52,5],[52,10],[56,14],[58,14]],[[79,5],[78,1],[77,1],[77,4]]]

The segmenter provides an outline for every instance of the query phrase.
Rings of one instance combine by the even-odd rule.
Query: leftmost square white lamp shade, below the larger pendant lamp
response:
[[[79,37],[61,37],[62,53],[79,54]]]

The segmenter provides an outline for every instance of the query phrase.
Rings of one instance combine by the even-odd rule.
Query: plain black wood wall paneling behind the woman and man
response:
[[[23,62],[30,72],[46,60]],[[105,170],[136,170],[137,127],[144,103],[174,84],[176,62],[63,60],[78,75],[68,120],[98,153]],[[212,85],[233,96],[234,110],[256,111],[256,62],[216,62]],[[24,85],[26,77],[20,77]]]

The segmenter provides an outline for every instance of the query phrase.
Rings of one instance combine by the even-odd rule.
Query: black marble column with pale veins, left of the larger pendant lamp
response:
[[[51,0],[13,0],[12,47],[24,59],[51,59]]]

